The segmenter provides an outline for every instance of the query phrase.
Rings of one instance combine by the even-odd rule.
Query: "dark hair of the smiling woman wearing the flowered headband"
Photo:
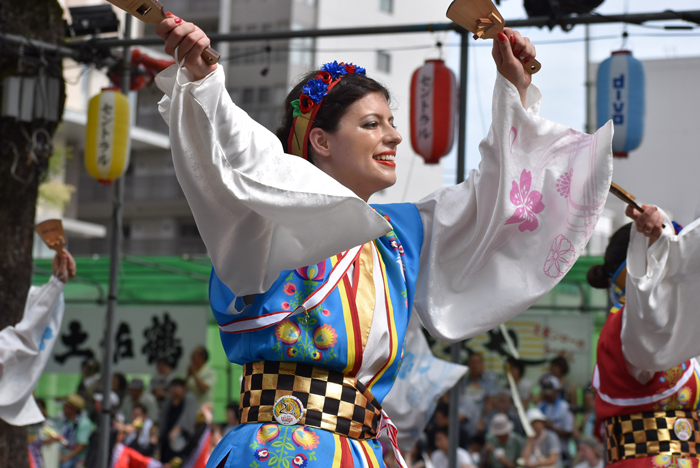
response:
[[[289,140],[289,132],[292,129],[292,123],[294,122],[294,109],[292,108],[291,102],[299,99],[299,96],[301,96],[301,88],[309,80],[313,79],[318,72],[319,70],[315,70],[304,76],[301,81],[292,88],[287,98],[284,100],[281,119],[282,126],[279,127],[275,133],[277,134],[277,138],[282,142],[282,147],[286,153],[289,152],[287,142]],[[338,129],[340,119],[343,118],[350,106],[358,99],[362,99],[370,93],[379,93],[386,98],[387,102],[391,101],[389,90],[372,78],[359,74],[346,75],[323,99],[321,108],[316,113],[311,128],[320,128],[328,133],[335,132]],[[299,135],[298,137],[301,139],[304,136]],[[309,162],[313,164],[311,143],[309,143],[307,151]]]

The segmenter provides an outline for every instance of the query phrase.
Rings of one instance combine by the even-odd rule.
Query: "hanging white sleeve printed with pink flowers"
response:
[[[612,177],[612,124],[586,135],[538,117],[500,74],[481,164],[417,203],[424,227],[415,306],[435,337],[478,335],[524,311],[571,268]]]

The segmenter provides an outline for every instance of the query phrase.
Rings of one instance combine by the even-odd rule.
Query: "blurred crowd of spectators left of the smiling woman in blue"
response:
[[[213,423],[211,406],[217,375],[207,365],[208,359],[207,350],[197,347],[192,352],[187,375],[178,377],[173,364],[161,358],[148,386],[141,378],[128,380],[125,375],[115,373],[107,397],[102,394],[99,363],[86,360],[78,388],[63,400],[61,413],[30,431],[35,465],[43,468],[42,446],[55,444],[60,447],[58,468],[101,467],[99,415],[106,408],[105,398],[109,398],[112,416],[109,434],[112,451],[119,448],[121,453],[126,447],[129,453],[159,460],[168,468],[199,456],[197,450],[201,450],[203,437],[211,435],[211,447],[214,447],[223,434],[238,424],[238,408],[229,405],[226,422]],[[39,403],[44,408],[44,402]]]

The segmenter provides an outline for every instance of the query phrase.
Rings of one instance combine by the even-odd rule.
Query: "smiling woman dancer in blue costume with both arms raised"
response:
[[[199,28],[169,15],[156,31],[179,62],[157,77],[175,170],[212,257],[223,346],[244,365],[241,424],[209,466],[382,467],[381,428],[403,464],[381,401],[412,308],[454,341],[546,294],[603,207],[610,126],[584,135],[537,117],[518,59],[535,48],[507,29],[480,170],[417,204],[371,207],[396,180],[401,136],[363,68],[308,74],[277,138],[231,102]]]

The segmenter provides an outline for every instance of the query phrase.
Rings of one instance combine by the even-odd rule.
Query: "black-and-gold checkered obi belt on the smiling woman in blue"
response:
[[[382,407],[354,377],[297,362],[243,366],[241,423],[317,427],[352,439],[378,436]]]

